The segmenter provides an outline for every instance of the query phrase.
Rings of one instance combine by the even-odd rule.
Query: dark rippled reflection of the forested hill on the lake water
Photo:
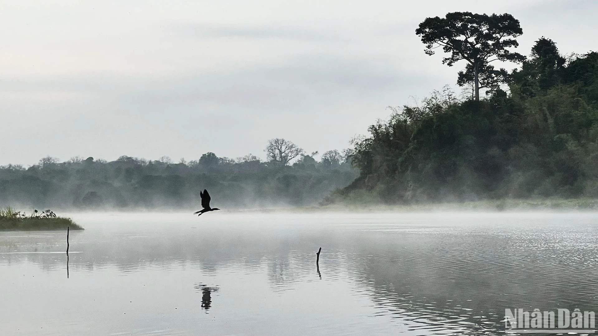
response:
[[[574,256],[555,258],[559,248],[534,247],[546,243],[527,238],[531,246],[517,247],[510,234],[371,234],[351,243],[361,253],[349,264],[380,314],[435,334],[499,334],[505,308],[598,308],[598,271],[575,277]],[[593,250],[568,252],[588,261]]]

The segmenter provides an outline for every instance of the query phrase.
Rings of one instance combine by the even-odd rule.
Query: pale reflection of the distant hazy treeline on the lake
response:
[[[272,239],[260,232],[221,232],[190,230],[181,234],[144,233],[144,236],[118,234],[99,236],[89,230],[83,234],[72,233],[71,271],[101,270],[116,267],[118,271],[130,273],[144,267],[200,268],[206,273],[215,273],[222,267],[234,264],[238,267],[256,270],[266,266],[270,283],[284,289],[301,280],[307,274],[307,265],[313,267],[315,256],[309,240],[318,239],[318,233],[310,233],[301,240]],[[66,243],[65,234],[47,233],[22,240],[22,237],[0,236],[0,248],[6,252],[62,251]],[[303,251],[301,251],[303,250]],[[4,252],[4,251],[2,251]],[[7,262],[19,262],[23,258],[42,267],[45,271],[62,268],[57,263],[59,255],[14,254],[0,255]]]

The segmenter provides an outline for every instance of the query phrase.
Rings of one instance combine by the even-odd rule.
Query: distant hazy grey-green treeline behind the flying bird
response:
[[[230,158],[212,152],[199,160],[173,163],[122,156],[107,162],[93,157],[59,163],[46,157],[28,168],[0,167],[0,204],[62,209],[167,209],[200,207],[200,190],[212,194],[212,206],[252,208],[318,204],[348,185],[357,172],[347,155],[328,151],[316,161],[283,139],[269,142],[269,161],[254,155]],[[297,157],[295,163],[289,161]]]

